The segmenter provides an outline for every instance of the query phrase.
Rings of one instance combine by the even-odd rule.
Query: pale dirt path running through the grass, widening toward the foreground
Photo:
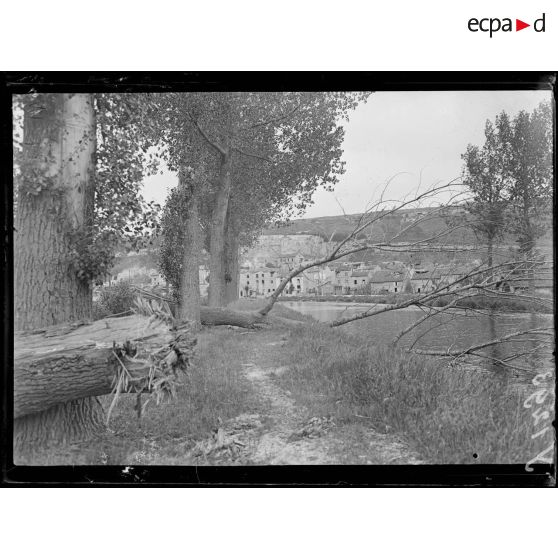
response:
[[[273,366],[284,341],[262,334],[242,363],[262,409],[220,425],[190,452],[197,463],[226,465],[419,464],[419,456],[397,436],[362,424],[338,426],[328,417],[312,417],[282,389]]]

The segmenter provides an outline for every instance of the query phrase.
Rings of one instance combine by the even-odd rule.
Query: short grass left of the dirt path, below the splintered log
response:
[[[204,330],[198,355],[177,398],[147,406],[138,422],[135,395],[121,396],[109,429],[97,440],[33,456],[36,465],[180,465],[195,443],[209,436],[218,420],[226,421],[259,402],[241,373],[249,336],[226,329]],[[105,410],[111,396],[101,398]]]

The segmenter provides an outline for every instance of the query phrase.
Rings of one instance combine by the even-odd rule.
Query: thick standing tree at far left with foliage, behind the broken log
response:
[[[15,326],[87,320],[92,282],[123,241],[137,245],[156,208],[137,191],[149,162],[133,98],[31,94],[16,151]],[[16,445],[83,438],[102,427],[95,398],[54,405],[15,421]]]

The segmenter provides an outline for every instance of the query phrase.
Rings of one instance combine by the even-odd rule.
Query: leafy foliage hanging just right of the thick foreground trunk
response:
[[[110,271],[117,247],[146,247],[158,231],[160,207],[140,194],[144,177],[156,172],[159,162],[145,106],[148,101],[115,93],[95,98],[95,219],[75,243],[75,257],[85,260],[81,268],[89,264],[91,278]]]

